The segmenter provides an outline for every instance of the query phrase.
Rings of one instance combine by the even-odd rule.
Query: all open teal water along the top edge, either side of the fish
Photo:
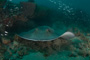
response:
[[[19,3],[21,1],[28,1],[28,0],[12,0],[12,2],[14,3]],[[73,8],[82,9],[90,14],[90,0],[51,0],[51,1],[54,2],[62,1],[66,5],[69,5]],[[41,5],[47,5],[47,6],[53,5],[52,3],[50,3],[49,0],[35,0],[35,2]]]

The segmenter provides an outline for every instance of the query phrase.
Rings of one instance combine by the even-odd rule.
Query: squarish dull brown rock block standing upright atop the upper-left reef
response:
[[[32,18],[35,13],[36,4],[31,2],[21,2],[21,5],[23,7],[23,14]]]

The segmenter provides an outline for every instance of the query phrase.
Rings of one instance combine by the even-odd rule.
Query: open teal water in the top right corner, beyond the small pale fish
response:
[[[67,5],[70,5],[74,8],[82,9],[87,13],[90,13],[90,0],[62,0],[62,1]]]

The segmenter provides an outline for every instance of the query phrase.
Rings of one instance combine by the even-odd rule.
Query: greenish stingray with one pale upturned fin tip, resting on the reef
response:
[[[58,31],[55,31],[49,26],[40,26],[34,28],[27,32],[22,32],[18,34],[19,37],[26,39],[26,40],[33,40],[33,41],[51,41],[55,40],[59,37],[69,39],[74,37],[74,34],[71,32],[62,32],[61,34]]]

